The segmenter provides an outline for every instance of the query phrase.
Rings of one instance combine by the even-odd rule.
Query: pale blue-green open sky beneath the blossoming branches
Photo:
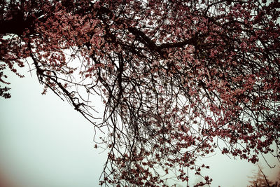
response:
[[[12,97],[0,98],[0,187],[98,186],[106,151],[94,148],[92,124],[50,90],[41,95],[36,74],[22,71],[25,78],[8,79]],[[210,165],[205,173],[214,179],[211,186],[246,186],[258,169],[218,153],[203,161]],[[269,163],[276,167],[260,165],[276,179],[279,162]]]

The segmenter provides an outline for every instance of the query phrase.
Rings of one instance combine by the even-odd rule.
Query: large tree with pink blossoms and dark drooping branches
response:
[[[188,184],[190,172],[208,168],[196,160],[214,151],[253,163],[279,158],[279,8],[257,0],[1,0],[0,70],[18,74],[31,60],[43,93],[107,129],[101,184],[159,186],[161,171]],[[8,88],[0,93],[9,97]],[[102,119],[93,95],[104,102]],[[211,183],[203,177],[197,185]]]

